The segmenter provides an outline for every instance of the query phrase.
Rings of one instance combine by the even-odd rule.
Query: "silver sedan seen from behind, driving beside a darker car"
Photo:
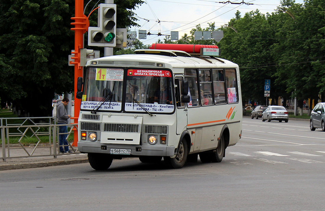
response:
[[[269,106],[262,113],[262,121],[271,122],[272,120],[278,120],[279,122],[288,122],[289,113],[283,106]]]

